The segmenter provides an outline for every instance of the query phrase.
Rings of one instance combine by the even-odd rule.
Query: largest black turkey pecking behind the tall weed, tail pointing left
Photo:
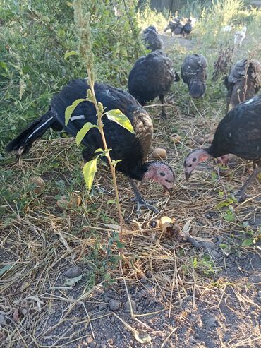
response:
[[[97,123],[97,113],[92,102],[81,102],[71,115],[67,126],[65,125],[66,108],[79,98],[86,98],[87,80],[72,80],[61,92],[55,95],[50,104],[49,111],[36,119],[16,139],[12,140],[6,150],[15,150],[18,156],[27,152],[32,143],[42,136],[48,128],[67,131],[71,136],[76,136],[78,131],[87,122]],[[133,125],[135,134],[119,126],[114,121],[103,116],[104,133],[107,139],[108,148],[111,148],[111,159],[122,160],[116,165],[116,169],[130,178],[135,196],[138,200],[138,207],[146,206],[152,210],[155,208],[148,205],[140,196],[138,188],[133,179],[151,179],[162,184],[164,191],[171,191],[174,184],[174,172],[168,164],[162,161],[147,161],[147,155],[152,144],[153,124],[149,114],[142,109],[140,104],[128,92],[113,88],[103,83],[95,83],[95,95],[97,101],[101,102],[107,111],[119,109],[125,114]],[[95,157],[95,150],[104,148],[102,138],[97,128],[92,128],[83,138],[83,158],[87,162]],[[105,160],[105,157],[102,157]]]

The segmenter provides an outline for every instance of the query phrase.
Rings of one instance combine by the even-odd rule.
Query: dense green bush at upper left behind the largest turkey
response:
[[[126,88],[128,72],[145,50],[138,39],[136,1],[116,17],[109,0],[85,1],[91,14],[97,80]],[[85,78],[70,1],[4,1],[0,10],[0,145],[48,108],[72,78]]]

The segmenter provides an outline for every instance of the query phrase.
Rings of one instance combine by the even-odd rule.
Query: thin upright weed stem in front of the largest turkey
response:
[[[105,138],[105,135],[104,135],[103,126],[102,126],[102,114],[99,111],[97,99],[96,99],[96,96],[95,96],[95,85],[94,85],[94,83],[92,81],[92,74],[91,74],[90,68],[87,68],[87,73],[88,73],[88,78],[89,78],[90,90],[92,92],[93,103],[95,104],[95,109],[96,109],[96,112],[97,112],[99,132],[101,133],[102,143],[104,145],[104,150],[107,152],[106,156],[107,156],[107,160],[109,162],[109,167],[111,168],[111,175],[112,175],[112,179],[113,179],[113,183],[114,183],[114,190],[115,190],[115,196],[116,196],[116,205],[117,205],[117,209],[118,209],[118,213],[119,213],[119,220],[120,220],[120,227],[121,227],[121,230],[120,230],[120,241],[122,243],[123,242],[123,237],[122,237],[122,233],[123,233],[123,216],[122,216],[122,213],[121,213],[121,204],[120,204],[120,200],[119,200],[119,191],[118,191],[118,186],[117,186],[117,182],[116,182],[115,166],[114,166],[114,164],[112,164],[111,156],[109,155],[107,142],[106,142],[106,138]],[[122,255],[122,248],[120,248],[120,253]]]

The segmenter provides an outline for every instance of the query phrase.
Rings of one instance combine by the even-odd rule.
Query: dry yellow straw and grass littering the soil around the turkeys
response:
[[[171,104],[171,100],[177,98],[177,95],[169,96],[166,104]],[[226,176],[221,176],[224,170],[219,169],[219,176],[217,165],[210,162],[202,165],[200,169],[204,168],[204,171],[196,171],[189,182],[185,181],[183,158],[190,148],[197,147],[195,138],[204,136],[207,139],[212,136],[222,116],[222,109],[211,117],[212,109],[209,107],[199,112],[193,102],[190,102],[190,109],[186,102],[183,105],[183,110],[179,108],[182,113],[175,104],[169,109],[168,121],[154,118],[154,147],[166,148],[167,160],[176,172],[174,194],[171,197],[162,196],[161,188],[153,183],[140,184],[140,189],[147,199],[157,202],[159,217],[175,217],[181,228],[190,220],[198,236],[203,238],[226,238],[231,232],[236,234],[241,231],[242,222],[257,212],[260,187],[255,183],[248,191],[255,196],[254,201],[231,204],[235,220],[228,222],[224,211],[217,210],[217,204],[241,186],[250,172],[250,165],[234,160],[233,169],[227,170]],[[157,109],[151,109],[152,114],[157,114]],[[181,134],[181,144],[171,143],[171,133]],[[83,330],[75,331],[73,336],[67,338],[66,333],[62,336],[69,345],[79,337],[85,337],[87,326],[92,328],[96,320],[89,317],[85,304],[96,301],[92,295],[104,285],[106,272],[117,282],[125,283],[126,289],[147,277],[154,287],[154,293],[162,295],[162,303],[169,315],[186,299],[188,289],[193,294],[197,289],[207,289],[210,287],[207,278],[215,279],[218,272],[206,252],[189,244],[178,244],[164,236],[158,228],[152,228],[150,222],[157,215],[145,211],[139,218],[135,216],[130,203],[133,193],[121,174],[118,177],[121,204],[123,215],[129,222],[126,222],[123,232],[125,246],[122,268],[116,261],[109,262],[108,250],[113,255],[118,254],[115,243],[110,244],[117,215],[116,208],[107,204],[108,200],[114,198],[109,170],[101,164],[96,183],[111,193],[89,196],[81,181],[79,159],[80,153],[75,149],[74,141],[61,138],[40,140],[26,158],[20,162],[12,158],[4,166],[6,171],[11,171],[6,183],[9,191],[18,192],[15,200],[5,200],[3,203],[4,214],[0,224],[0,258],[2,267],[8,266],[0,282],[0,313],[9,319],[0,334],[5,347],[16,347],[16,344],[17,347],[44,347],[42,338],[51,335],[55,327],[45,327],[43,320],[55,306],[63,307],[63,316],[58,325],[66,321],[76,305],[85,308],[85,318],[78,318],[78,323],[82,320]],[[46,190],[40,196],[35,196],[28,186],[29,177],[35,174],[42,176],[47,183]],[[78,181],[74,181],[75,177],[78,177]],[[56,208],[55,196],[61,194],[56,181],[61,178],[66,182],[68,191],[80,191],[83,204],[77,210],[61,212]],[[221,197],[219,192],[224,196]],[[20,200],[23,202],[22,208]],[[234,242],[230,240],[229,244],[241,248],[238,239]],[[63,284],[63,272],[71,264],[80,265],[88,275],[76,298],[68,296],[66,289],[70,287]],[[142,315],[133,318],[140,320],[140,317]],[[128,326],[125,322],[124,325]],[[59,340],[61,337],[57,337],[54,347],[61,347]]]

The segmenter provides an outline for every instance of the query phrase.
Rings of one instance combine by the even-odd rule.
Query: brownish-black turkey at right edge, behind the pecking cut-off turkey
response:
[[[260,89],[261,64],[256,59],[242,59],[232,66],[225,78],[228,90],[226,95],[227,111],[237,104],[248,100]]]

